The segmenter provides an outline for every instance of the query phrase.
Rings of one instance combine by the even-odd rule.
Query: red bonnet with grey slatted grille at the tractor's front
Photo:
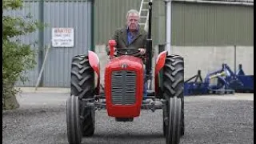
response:
[[[122,55],[111,58],[105,70],[106,110],[115,118],[138,117],[143,94],[141,58]]]

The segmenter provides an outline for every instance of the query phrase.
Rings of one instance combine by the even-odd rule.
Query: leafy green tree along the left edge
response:
[[[36,64],[36,51],[31,49],[30,44],[20,42],[18,36],[42,28],[42,24],[30,16],[14,18],[3,14],[4,10],[18,9],[22,9],[22,0],[2,1],[2,106],[8,110],[19,107],[16,99],[19,90],[15,89],[15,82],[26,82],[28,79],[24,74]]]

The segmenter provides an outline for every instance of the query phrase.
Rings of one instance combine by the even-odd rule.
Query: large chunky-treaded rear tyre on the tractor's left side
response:
[[[86,55],[72,58],[71,95],[78,98],[94,98],[94,70]],[[82,101],[81,101],[82,102]],[[95,111],[82,102],[80,105],[82,136],[92,136],[95,129]]]

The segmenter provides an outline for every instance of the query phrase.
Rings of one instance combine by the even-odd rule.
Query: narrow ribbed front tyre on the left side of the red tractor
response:
[[[67,138],[70,144],[80,144],[82,133],[79,115],[79,99],[71,95],[66,101]]]

